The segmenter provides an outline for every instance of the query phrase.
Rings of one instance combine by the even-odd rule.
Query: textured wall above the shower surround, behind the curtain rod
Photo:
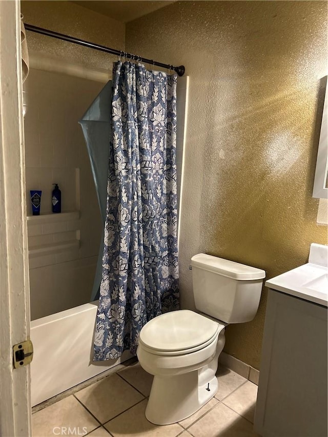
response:
[[[125,48],[125,24],[82,6],[66,1],[29,1],[20,3],[24,22],[65,33],[91,43]],[[61,59],[69,59],[92,68],[112,70],[112,62],[117,56],[91,50],[49,36],[27,32],[29,51],[47,54]]]

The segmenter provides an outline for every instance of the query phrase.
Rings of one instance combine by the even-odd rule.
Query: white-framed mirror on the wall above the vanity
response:
[[[327,88],[324,97],[323,114],[320,130],[316,172],[314,176],[312,197],[328,199],[328,97]]]

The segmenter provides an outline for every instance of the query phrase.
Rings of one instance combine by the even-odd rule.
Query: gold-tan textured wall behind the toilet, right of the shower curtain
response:
[[[129,52],[186,66],[189,115],[180,228],[182,307],[198,252],[272,278],[327,243],[311,197],[326,67],[326,2],[179,2],[127,24]],[[225,350],[259,368],[267,290]]]

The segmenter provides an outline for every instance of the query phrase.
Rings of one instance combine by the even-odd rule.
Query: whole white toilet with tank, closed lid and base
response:
[[[198,312],[162,314],[139,336],[139,363],[154,375],[146,418],[156,425],[186,419],[214,397],[224,330],[253,320],[260,302],[264,270],[206,254],[191,265]]]

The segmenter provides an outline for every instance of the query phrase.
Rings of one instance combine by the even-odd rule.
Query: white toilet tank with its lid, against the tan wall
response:
[[[191,265],[195,305],[201,313],[226,323],[254,319],[264,270],[206,254],[193,256]]]

